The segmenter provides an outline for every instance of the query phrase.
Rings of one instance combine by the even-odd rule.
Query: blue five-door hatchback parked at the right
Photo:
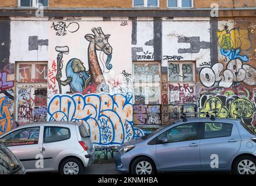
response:
[[[241,120],[191,118],[162,126],[118,147],[118,171],[256,173],[256,134]]]

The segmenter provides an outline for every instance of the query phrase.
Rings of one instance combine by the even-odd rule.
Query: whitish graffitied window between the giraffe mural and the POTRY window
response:
[[[134,103],[160,104],[160,63],[134,62]]]

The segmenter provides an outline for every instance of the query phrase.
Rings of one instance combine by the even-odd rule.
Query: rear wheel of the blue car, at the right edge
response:
[[[256,159],[251,156],[237,158],[232,167],[233,174],[256,174]]]

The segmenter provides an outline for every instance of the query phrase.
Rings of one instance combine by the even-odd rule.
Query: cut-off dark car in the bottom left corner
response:
[[[14,174],[20,169],[19,160],[0,142],[0,174]]]

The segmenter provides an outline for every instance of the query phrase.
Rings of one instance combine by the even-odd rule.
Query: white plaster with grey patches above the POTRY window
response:
[[[181,56],[182,60],[211,61],[210,49],[200,49],[198,53],[178,53],[179,48],[190,48],[190,43],[178,43],[178,37],[200,37],[200,41],[210,42],[210,23],[206,20],[163,21],[163,56]]]

